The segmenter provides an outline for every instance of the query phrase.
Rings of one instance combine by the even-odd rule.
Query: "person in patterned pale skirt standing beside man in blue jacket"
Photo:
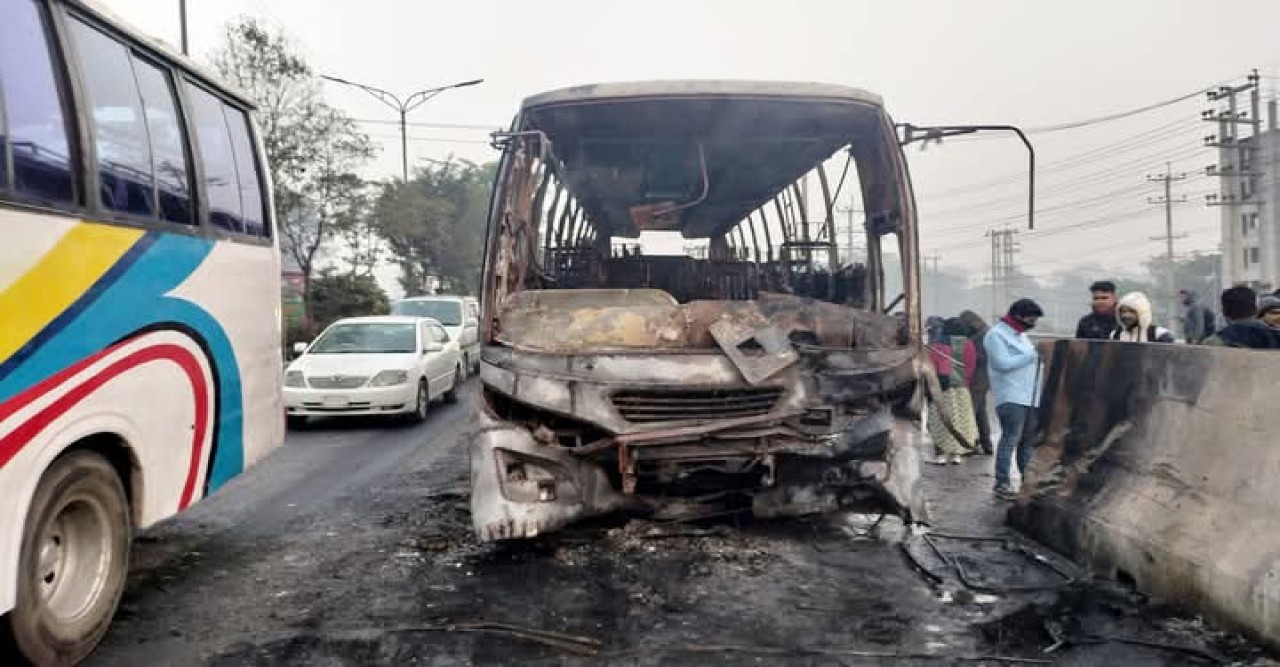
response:
[[[978,348],[965,335],[965,325],[959,317],[942,325],[941,339],[929,344],[929,361],[942,388],[942,396],[929,402],[929,438],[938,463],[960,463],[975,451],[978,440],[978,422],[969,396]]]

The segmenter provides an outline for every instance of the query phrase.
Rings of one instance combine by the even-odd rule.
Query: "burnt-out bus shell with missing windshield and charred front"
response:
[[[915,210],[879,97],[585,86],[526,100],[495,141],[481,539],[617,511],[924,518]],[[692,247],[627,242],[655,232]]]

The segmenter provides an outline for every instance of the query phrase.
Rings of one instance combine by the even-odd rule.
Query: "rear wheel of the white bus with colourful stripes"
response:
[[[131,530],[124,485],[105,458],[77,451],[50,466],[23,527],[17,606],[0,622],[18,658],[74,664],[93,650],[124,591]]]

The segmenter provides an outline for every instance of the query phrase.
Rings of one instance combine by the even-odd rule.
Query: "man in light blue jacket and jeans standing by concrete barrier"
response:
[[[1016,497],[1009,480],[1009,466],[1016,457],[1018,471],[1027,470],[1032,458],[1032,431],[1036,429],[1036,406],[1039,405],[1039,353],[1027,332],[1044,311],[1029,298],[1020,298],[1009,314],[987,332],[982,347],[987,352],[991,392],[996,398],[1000,419],[1000,444],[996,446],[996,497]]]

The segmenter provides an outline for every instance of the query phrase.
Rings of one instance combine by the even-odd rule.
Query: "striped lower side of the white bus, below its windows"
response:
[[[128,443],[145,526],[279,446],[283,410],[273,247],[3,207],[0,234],[20,239],[0,246],[3,613],[31,495],[65,447]]]

